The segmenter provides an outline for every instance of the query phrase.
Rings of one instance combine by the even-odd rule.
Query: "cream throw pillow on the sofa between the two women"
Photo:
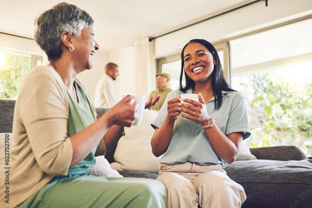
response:
[[[155,157],[151,146],[151,139],[155,132],[151,123],[157,114],[155,111],[145,109],[139,126],[124,128],[125,135],[119,139],[114,154],[115,162],[110,164],[113,169],[158,174],[161,156]]]

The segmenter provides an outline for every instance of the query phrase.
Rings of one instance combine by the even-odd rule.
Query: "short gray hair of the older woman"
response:
[[[35,41],[46,52],[48,59],[54,61],[62,55],[62,32],[67,31],[79,38],[82,29],[93,27],[93,22],[92,17],[84,10],[62,2],[37,17]]]

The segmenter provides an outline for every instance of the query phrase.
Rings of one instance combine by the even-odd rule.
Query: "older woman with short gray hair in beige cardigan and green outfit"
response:
[[[99,49],[93,19],[75,5],[60,3],[42,13],[36,25],[35,40],[50,63],[34,67],[22,82],[10,181],[0,184],[1,190],[9,186],[9,200],[2,197],[0,207],[165,207],[167,190],[159,181],[89,174],[120,125],[130,127],[138,119],[138,104],[131,105],[128,95],[96,120],[90,93],[76,78],[92,68]]]

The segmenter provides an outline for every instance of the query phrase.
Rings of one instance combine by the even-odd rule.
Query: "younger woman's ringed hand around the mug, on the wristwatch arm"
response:
[[[181,113],[180,115],[186,119],[195,121],[196,123],[199,123],[203,126],[207,125],[207,120],[211,119],[211,117],[208,115],[207,113],[207,107],[206,107],[206,103],[204,98],[202,97],[202,94],[199,93],[198,94],[198,99],[199,102],[192,100],[192,99],[183,99],[183,101],[193,104],[193,105],[189,105],[189,104],[181,104],[179,103],[179,108],[178,110],[183,112],[183,113],[187,113],[190,114],[189,115],[185,115],[183,113]],[[187,108],[187,109],[183,109],[183,108]],[[194,113],[194,115],[193,115]]]

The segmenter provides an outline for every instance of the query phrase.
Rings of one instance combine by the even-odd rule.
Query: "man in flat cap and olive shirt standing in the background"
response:
[[[156,74],[156,77],[157,77],[157,89],[151,92],[149,96],[151,96],[152,94],[154,95],[154,97],[157,94],[160,94],[161,96],[159,101],[150,108],[151,110],[160,110],[161,106],[165,102],[167,94],[172,91],[172,89],[168,88],[169,81],[171,79],[171,76],[169,74],[158,73]]]

